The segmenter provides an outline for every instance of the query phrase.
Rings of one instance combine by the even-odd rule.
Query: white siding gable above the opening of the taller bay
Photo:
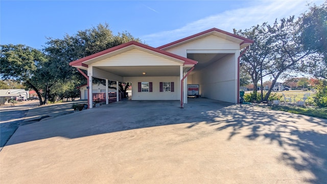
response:
[[[166,50],[167,52],[187,57],[187,50],[240,50],[238,43],[223,39],[215,35],[208,35],[177,47]],[[220,51],[221,53],[221,51]]]

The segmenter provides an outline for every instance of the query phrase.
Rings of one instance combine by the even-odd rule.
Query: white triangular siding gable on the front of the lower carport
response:
[[[133,49],[125,53],[106,58],[91,64],[92,66],[162,66],[181,65],[176,61],[162,58],[138,49]]]

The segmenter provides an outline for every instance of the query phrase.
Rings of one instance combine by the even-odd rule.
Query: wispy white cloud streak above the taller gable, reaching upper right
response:
[[[232,33],[233,28],[244,30],[258,24],[261,25],[263,22],[272,25],[276,18],[281,19],[292,15],[297,17],[307,11],[307,3],[307,1],[255,1],[245,8],[228,10],[190,22],[179,29],[144,35],[140,38],[152,47],[159,47],[211,28]],[[320,5],[323,1],[314,3]]]

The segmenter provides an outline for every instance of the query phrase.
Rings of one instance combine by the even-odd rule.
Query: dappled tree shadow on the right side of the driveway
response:
[[[327,121],[256,105],[228,106],[207,112],[207,124],[217,131],[231,130],[227,140],[242,131],[248,140],[268,140],[285,151],[277,158],[297,171],[309,171],[311,183],[327,182]],[[193,128],[197,123],[191,123]],[[263,143],[264,144],[264,143]]]

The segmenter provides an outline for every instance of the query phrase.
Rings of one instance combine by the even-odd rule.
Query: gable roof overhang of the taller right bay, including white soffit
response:
[[[236,34],[228,33],[226,31],[223,31],[223,30],[220,30],[220,29],[217,29],[217,28],[212,28],[212,29],[203,31],[201,33],[197,33],[195,35],[192,35],[192,36],[189,36],[189,37],[186,37],[186,38],[182,38],[180,40],[177,40],[177,41],[162,45],[162,46],[158,47],[157,49],[167,50],[167,49],[176,47],[177,45],[184,44],[186,42],[198,39],[200,37],[207,36],[209,34],[214,34],[214,35],[219,36],[221,38],[224,38],[224,39],[227,39],[227,40],[230,40],[230,41],[233,41],[233,42],[237,42],[237,43],[240,44],[241,49],[247,47],[248,45],[250,45],[250,44],[252,44],[254,42],[251,39],[244,38],[244,37],[236,35]]]

